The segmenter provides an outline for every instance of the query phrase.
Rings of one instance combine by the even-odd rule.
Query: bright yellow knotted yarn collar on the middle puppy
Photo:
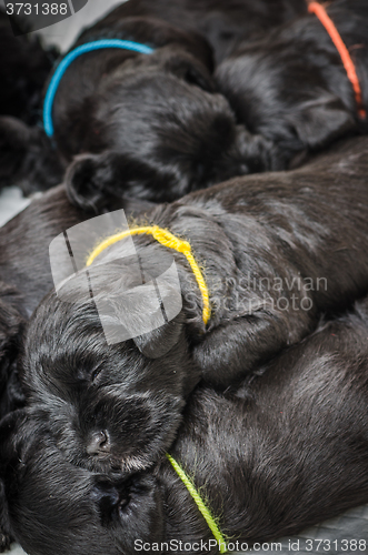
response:
[[[129,235],[141,235],[145,233],[152,235],[156,239],[156,241],[161,243],[163,246],[168,246],[169,249],[173,249],[173,250],[182,253],[186,256],[186,259],[188,260],[189,265],[191,268],[191,271],[193,272],[193,274],[196,276],[198,287],[199,287],[201,295],[202,295],[202,302],[203,302],[202,319],[203,319],[205,324],[207,324],[207,322],[209,321],[210,315],[211,315],[211,309],[210,309],[210,304],[209,304],[209,293],[208,293],[208,287],[207,287],[205,278],[202,275],[202,272],[200,271],[199,265],[197,264],[195,256],[192,255],[191,246],[187,241],[182,241],[181,239],[178,239],[177,236],[172,235],[172,233],[159,228],[158,225],[127,230],[127,231],[122,231],[121,233],[117,233],[116,235],[111,235],[111,236],[105,239],[105,241],[102,241],[91,252],[91,254],[89,255],[89,258],[87,260],[86,265],[90,266],[92,264],[93,260],[99,254],[101,254],[101,252],[105,251],[105,249],[107,249],[108,246],[111,246],[112,244],[117,243],[118,241],[122,241],[123,239],[126,239]]]

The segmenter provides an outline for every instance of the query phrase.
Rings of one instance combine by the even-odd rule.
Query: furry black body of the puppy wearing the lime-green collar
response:
[[[239,404],[195,393],[172,455],[195,477],[229,538],[294,535],[367,503],[367,316],[365,299],[352,313],[322,322],[261,367],[265,374],[237,393],[246,400]],[[168,503],[170,537],[211,537],[206,523],[200,531],[191,525],[193,502],[165,466],[176,483]],[[177,506],[188,506],[185,524]]]

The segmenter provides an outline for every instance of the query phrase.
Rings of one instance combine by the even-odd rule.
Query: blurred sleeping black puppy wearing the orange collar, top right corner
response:
[[[327,12],[350,51],[368,110],[368,4],[338,0]],[[314,13],[240,44],[216,78],[238,120],[275,141],[286,162],[367,131],[341,57]]]

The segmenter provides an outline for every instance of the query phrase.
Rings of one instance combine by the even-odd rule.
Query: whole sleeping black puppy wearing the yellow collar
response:
[[[189,241],[209,291],[207,323],[203,283],[183,250],[148,232],[101,250],[87,272],[41,302],[24,342],[22,380],[68,460],[92,470],[146,468],[172,443],[200,380],[235,386],[312,331],[320,312],[368,291],[367,151],[368,139],[344,142],[302,169],[238,178],[136,221],[138,230],[157,225],[173,243]],[[54,268],[68,268],[70,252],[73,263],[86,260],[89,231],[76,248],[61,240]],[[132,244],[138,262],[123,259]],[[177,300],[178,289],[167,279],[169,255],[181,301],[171,313],[167,301]],[[156,291],[135,296],[139,264],[159,302]],[[137,333],[160,317],[167,323]],[[120,332],[131,324],[136,333],[123,341]]]

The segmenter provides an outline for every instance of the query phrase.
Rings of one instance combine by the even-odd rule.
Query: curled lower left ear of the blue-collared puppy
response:
[[[161,179],[152,168],[116,152],[81,154],[66,173],[70,202],[84,212],[99,213],[111,200],[123,194],[142,198],[142,191],[155,192]],[[140,194],[139,194],[140,193]]]

